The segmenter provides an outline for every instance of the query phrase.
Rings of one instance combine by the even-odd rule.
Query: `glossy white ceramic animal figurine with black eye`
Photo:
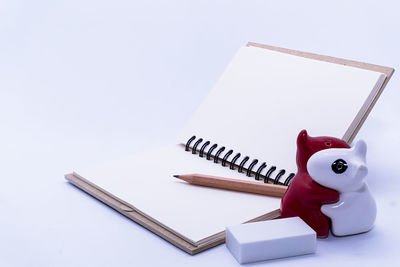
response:
[[[351,149],[321,150],[308,160],[311,178],[339,192],[338,202],[321,207],[332,221],[334,235],[359,234],[374,225],[376,204],[364,179],[368,173],[366,152],[367,145],[360,140]]]

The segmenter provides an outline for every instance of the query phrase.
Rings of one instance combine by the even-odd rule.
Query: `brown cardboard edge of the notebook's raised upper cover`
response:
[[[253,47],[269,49],[269,50],[286,53],[286,54],[291,54],[291,55],[295,55],[295,56],[300,56],[300,57],[304,57],[304,58],[310,58],[310,59],[335,63],[335,64],[344,65],[344,66],[351,66],[351,67],[355,67],[355,68],[376,71],[376,72],[385,74],[386,75],[385,81],[383,82],[382,86],[378,89],[378,92],[376,93],[375,97],[372,99],[372,101],[370,103],[367,103],[368,99],[365,100],[366,101],[365,104],[367,104],[367,105],[363,105],[364,110],[363,109],[360,110],[360,112],[362,112],[362,114],[357,114],[357,117],[361,116],[361,119],[360,119],[359,123],[357,124],[357,126],[354,128],[354,131],[345,140],[349,144],[354,140],[358,131],[361,129],[361,126],[364,124],[366,118],[368,117],[372,108],[375,106],[380,95],[382,94],[383,89],[386,87],[387,83],[389,82],[390,78],[392,77],[392,75],[394,73],[394,68],[364,63],[364,62],[355,61],[355,60],[319,55],[319,54],[303,52],[303,51],[299,51],[299,50],[293,50],[293,49],[277,47],[277,46],[272,46],[272,45],[259,44],[259,43],[254,43],[254,42],[248,42],[246,46],[253,46]],[[373,94],[373,93],[375,93],[375,92],[371,92],[371,94]],[[355,118],[355,120],[357,119],[357,117]],[[353,123],[354,123],[354,121],[352,122],[352,124]]]

